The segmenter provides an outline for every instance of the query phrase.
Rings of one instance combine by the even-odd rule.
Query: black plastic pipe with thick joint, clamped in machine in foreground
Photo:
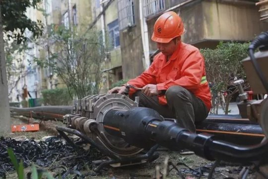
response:
[[[172,150],[193,150],[208,160],[219,159],[241,164],[268,162],[268,141],[258,145],[241,146],[218,140],[213,135],[191,133],[177,123],[164,121],[149,108],[135,107],[128,111],[112,109],[107,112],[103,122],[109,134],[121,137],[140,148],[158,143]]]

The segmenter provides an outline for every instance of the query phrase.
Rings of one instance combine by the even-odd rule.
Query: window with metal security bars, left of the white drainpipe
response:
[[[133,26],[134,18],[134,0],[118,0],[119,30]]]

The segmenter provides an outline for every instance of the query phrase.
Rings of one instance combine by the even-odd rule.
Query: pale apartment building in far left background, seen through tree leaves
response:
[[[57,74],[51,68],[42,68],[34,63],[34,58],[49,61],[50,53],[57,50],[57,47],[49,40],[48,32],[59,25],[64,25],[66,28],[76,26],[79,28],[79,31],[82,31],[92,21],[91,1],[43,0],[39,4],[39,8],[44,9],[44,12],[29,8],[27,16],[34,21],[42,21],[44,24],[44,35],[38,40],[39,45],[35,42],[29,43],[31,48],[25,53],[25,56],[32,63],[30,65],[25,63],[27,75],[20,82],[24,84],[20,86],[27,88],[27,91],[33,98],[41,97],[41,91],[44,89],[65,87],[63,81],[57,77]],[[23,89],[21,92],[23,92]],[[15,96],[12,98],[15,98]]]

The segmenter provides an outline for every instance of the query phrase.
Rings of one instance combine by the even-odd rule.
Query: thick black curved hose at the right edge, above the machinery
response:
[[[267,46],[268,45],[268,31],[267,32],[263,32],[261,33],[256,39],[254,39],[250,46],[249,46],[249,56],[250,56],[250,59],[253,63],[253,67],[257,73],[257,75],[259,76],[264,88],[266,89],[266,91],[268,92],[268,82],[267,80],[265,79],[265,76],[261,70],[261,67],[260,65],[258,64],[255,56],[254,56],[254,53],[255,53],[255,50],[260,47],[260,46]]]

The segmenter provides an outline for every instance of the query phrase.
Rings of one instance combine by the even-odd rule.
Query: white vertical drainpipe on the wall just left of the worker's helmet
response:
[[[140,19],[140,31],[141,31],[141,40],[143,48],[143,67],[148,69],[150,66],[150,52],[149,52],[149,39],[148,39],[148,28],[146,23],[146,18],[143,17],[143,6],[142,0],[139,0],[139,19]]]

